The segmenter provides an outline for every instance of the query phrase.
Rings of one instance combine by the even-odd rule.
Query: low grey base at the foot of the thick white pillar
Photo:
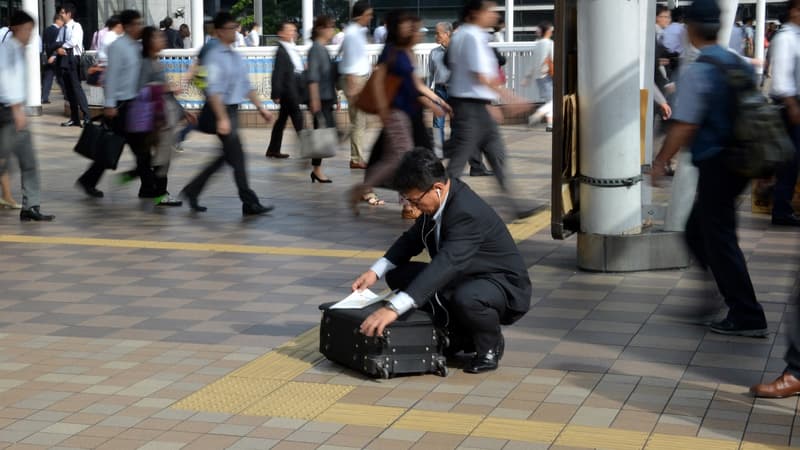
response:
[[[592,272],[637,272],[689,266],[681,232],[650,230],[605,236],[578,234],[578,267]]]

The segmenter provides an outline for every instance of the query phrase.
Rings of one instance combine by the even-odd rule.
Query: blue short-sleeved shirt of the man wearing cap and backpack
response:
[[[752,72],[736,54],[719,45],[700,50],[700,56],[709,56],[724,64],[742,64]],[[719,154],[730,140],[733,123],[731,111],[734,99],[725,74],[717,67],[703,62],[689,64],[678,79],[677,97],[672,119],[698,125],[690,149],[692,161],[703,161]]]

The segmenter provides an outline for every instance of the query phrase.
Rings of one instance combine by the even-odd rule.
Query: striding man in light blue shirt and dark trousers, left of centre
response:
[[[214,16],[217,43],[209,46],[202,58],[203,65],[208,69],[206,102],[210,104],[215,117],[222,154],[181,191],[181,195],[196,212],[206,211],[207,208],[197,202],[198,197],[211,176],[225,163],[233,168],[239,199],[242,201],[242,215],[265,214],[273,209],[271,205],[261,204],[247,182],[245,154],[239,138],[239,104],[247,97],[266,122],[272,121],[272,114],[261,104],[258,92],[250,84],[247,63],[233,50],[238,27],[233,15],[226,11],[218,12]]]

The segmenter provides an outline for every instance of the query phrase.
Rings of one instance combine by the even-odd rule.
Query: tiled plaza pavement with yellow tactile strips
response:
[[[263,157],[268,130],[246,130],[253,188],[275,211],[243,220],[226,169],[193,215],[139,201],[112,173],[106,198],[85,199],[72,186],[86,167],[71,150],[80,130],[59,120],[33,125],[56,222],[0,210],[0,448],[800,446],[797,398],[747,394],[782,370],[794,314],[800,238],[767,217],[740,216],[766,339],[691,323],[714,298],[698,269],[576,270],[575,240],[551,240],[544,212],[510,225],[534,298],[505,330],[500,370],[467,375],[452,361],[447,378],[369,380],[316,352],[317,305],[344,296],[409,222],[388,191],[386,206],[352,217],[345,194],[363,172],[346,150],[324,163],[334,183],[312,185],[306,162]],[[549,203],[550,135],[503,134],[514,196]],[[191,135],[173,193],[215,148]],[[126,151],[120,166],[132,164]],[[509,216],[493,179],[465,180]]]

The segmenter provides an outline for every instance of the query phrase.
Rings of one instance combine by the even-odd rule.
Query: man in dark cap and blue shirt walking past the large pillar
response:
[[[739,67],[753,75],[755,84],[752,67],[717,44],[720,9],[716,0],[695,0],[686,11],[686,22],[689,41],[700,51],[700,58]],[[730,95],[726,74],[716,63],[701,60],[689,64],[678,83],[673,123],[653,161],[653,183],[658,184],[667,163],[681,147],[689,147],[699,180],[686,223],[686,240],[700,265],[711,270],[728,306],[727,316],[713,322],[710,330],[766,336],[767,319],[756,300],[736,236],[736,198],[749,180],[731,170],[725,151],[733,133],[731,111],[736,101]]]

